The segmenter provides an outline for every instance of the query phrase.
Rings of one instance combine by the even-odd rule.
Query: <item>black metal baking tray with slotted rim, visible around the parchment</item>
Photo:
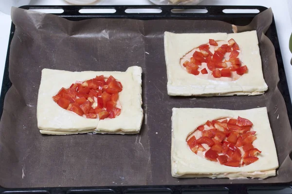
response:
[[[244,26],[249,24],[256,16],[255,13],[223,13],[224,9],[253,9],[263,12],[266,7],[262,6],[22,6],[24,9],[63,9],[61,14],[55,14],[57,16],[64,17],[69,20],[83,20],[91,18],[130,18],[130,19],[208,19],[208,20],[220,20],[231,24]],[[126,9],[161,9],[161,13],[126,13]],[[115,13],[94,13],[94,14],[80,14],[80,9],[115,9]],[[205,9],[207,13],[172,13],[172,9]],[[15,26],[12,24],[9,45],[6,57],[6,63],[4,68],[4,76],[2,81],[1,96],[0,96],[0,116],[3,111],[4,97],[8,89],[11,87],[11,82],[8,76],[9,66],[9,50],[10,43],[13,38]],[[288,84],[286,80],[283,60],[281,57],[281,51],[279,41],[276,32],[276,26],[273,22],[266,32],[266,35],[270,38],[274,44],[276,59],[278,63],[278,73],[280,81],[278,88],[284,97],[290,123],[292,123],[292,104],[289,94]],[[287,40],[288,41],[288,40]],[[290,154],[292,158],[292,154]],[[292,176],[292,175],[291,175]],[[49,181],[49,180],[48,180]],[[111,187],[62,187],[62,188],[2,188],[0,186],[0,194],[292,194],[292,182],[286,183],[273,183],[273,184],[228,184],[228,185],[163,185],[163,186],[111,186]]]

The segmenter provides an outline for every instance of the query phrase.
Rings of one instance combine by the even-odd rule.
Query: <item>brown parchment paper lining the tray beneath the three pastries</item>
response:
[[[169,97],[166,91],[164,31],[232,32],[211,20],[131,20],[64,18],[14,8],[9,77],[0,121],[0,185],[72,187],[164,184],[272,183],[292,180],[292,131],[279,81],[274,46],[263,35],[272,21],[267,10],[256,29],[269,90],[260,96]],[[145,119],[137,135],[41,135],[37,129],[37,92],[41,70],[125,71],[143,68]],[[58,87],[58,86],[56,86]],[[171,109],[205,107],[242,110],[267,106],[279,160],[278,175],[260,179],[178,179],[171,176]]]

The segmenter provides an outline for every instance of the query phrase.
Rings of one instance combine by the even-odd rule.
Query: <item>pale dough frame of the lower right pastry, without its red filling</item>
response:
[[[187,136],[207,120],[237,116],[252,121],[257,139],[253,145],[262,151],[258,161],[244,167],[230,167],[208,161],[187,146]],[[171,174],[177,178],[267,178],[275,176],[278,165],[272,129],[266,107],[242,111],[206,108],[173,108]]]

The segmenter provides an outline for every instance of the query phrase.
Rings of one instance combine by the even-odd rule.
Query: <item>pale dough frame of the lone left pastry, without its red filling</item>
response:
[[[123,85],[123,90],[119,93],[122,110],[116,118],[84,118],[62,109],[54,102],[52,97],[61,87],[69,88],[75,81],[86,81],[97,75],[112,75]],[[139,133],[143,120],[141,75],[142,68],[139,66],[131,66],[126,72],[43,69],[37,98],[37,127],[43,134],[55,135],[87,132]]]

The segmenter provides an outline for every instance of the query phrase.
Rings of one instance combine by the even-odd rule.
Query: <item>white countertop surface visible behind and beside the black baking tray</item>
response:
[[[1,1],[1,0],[0,0]],[[2,4],[2,2],[1,2]],[[31,0],[31,5],[70,5],[64,0]],[[148,0],[98,0],[98,5],[151,5]],[[290,96],[292,96],[292,54],[289,50],[289,38],[292,32],[292,0],[203,0],[201,5],[261,5],[272,7],[282,58],[285,66]],[[0,10],[1,10],[0,5]],[[2,84],[6,60],[11,19],[9,15],[0,12],[0,85]]]

